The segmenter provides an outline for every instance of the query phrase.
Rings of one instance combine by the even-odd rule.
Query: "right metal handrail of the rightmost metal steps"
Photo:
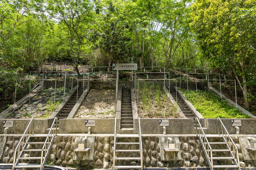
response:
[[[237,153],[237,154],[236,154],[236,156],[237,156],[237,164],[238,164],[238,168],[239,168],[239,170],[240,170],[240,163],[239,163],[240,161],[239,161],[239,155],[238,155],[238,147],[236,146],[236,144],[234,143],[233,139],[232,139],[231,136],[229,135],[229,132],[228,132],[227,128],[224,126],[224,124],[223,124],[223,122],[221,121],[221,119],[218,117],[217,120],[219,120],[219,121],[218,121],[218,131],[219,131],[219,122],[220,122],[220,125],[221,125],[221,132],[222,132],[221,135],[224,137],[224,140],[225,140],[226,143],[227,143],[226,138],[227,138],[227,137],[229,138],[229,144],[231,143],[232,146],[233,146],[233,153],[234,153],[234,154]],[[225,135],[224,135],[224,133],[223,133],[223,129],[224,129],[224,131],[225,131]],[[220,131],[219,131],[219,135],[220,135]],[[228,147],[229,147],[229,144],[227,143],[227,146],[228,146]],[[230,145],[229,150],[231,151],[231,145]],[[236,152],[235,152],[235,151],[236,151]],[[231,155],[235,158],[235,156],[233,155],[233,153],[232,153],[232,152],[230,152],[230,153],[231,153]]]

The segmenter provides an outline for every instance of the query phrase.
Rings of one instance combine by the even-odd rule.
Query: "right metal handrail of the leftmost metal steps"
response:
[[[47,137],[46,137],[45,143],[44,143],[44,145],[43,145],[43,147],[42,147],[42,151],[41,151],[41,162],[40,162],[40,170],[42,170],[42,169],[44,168],[44,167],[43,167],[43,158],[44,158],[44,156],[45,156],[44,160],[46,159],[46,155],[47,155],[48,150],[49,150],[49,145],[53,142],[54,136],[56,135],[57,126],[55,126],[55,125],[57,125],[57,123],[56,123],[56,120],[57,120],[57,119],[58,119],[57,117],[54,118],[54,121],[53,121],[53,123],[52,123],[52,126],[50,127],[50,130],[49,130],[48,135],[47,135]],[[53,132],[53,133],[52,133],[52,132]],[[51,141],[49,141],[49,140],[50,140],[49,137],[51,137]],[[46,144],[47,144],[47,147],[46,147]],[[45,149],[45,148],[47,148],[47,149]],[[45,153],[45,154],[44,154],[44,153]]]

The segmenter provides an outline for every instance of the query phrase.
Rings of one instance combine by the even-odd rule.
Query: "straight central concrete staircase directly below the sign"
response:
[[[130,88],[122,88],[121,128],[133,128]]]

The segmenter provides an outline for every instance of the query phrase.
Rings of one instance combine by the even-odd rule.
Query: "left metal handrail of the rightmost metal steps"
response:
[[[199,128],[197,128],[197,125],[199,125]],[[198,129],[201,130],[201,133],[200,133],[200,130],[198,131]],[[210,166],[213,169],[212,149],[211,149],[210,143],[209,143],[209,141],[208,141],[208,139],[207,139],[207,137],[206,137],[206,135],[205,135],[205,133],[203,131],[201,123],[200,123],[200,121],[199,121],[199,119],[197,117],[196,117],[196,136],[200,137],[200,140],[201,140],[201,142],[203,144],[206,156],[207,156],[208,159],[210,158]],[[201,136],[204,137],[203,138],[204,141],[202,141]],[[207,147],[206,147],[206,144],[207,144]],[[206,148],[207,148],[208,152],[206,152]]]

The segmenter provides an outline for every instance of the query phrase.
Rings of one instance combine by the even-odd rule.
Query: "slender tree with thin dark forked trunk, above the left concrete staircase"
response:
[[[78,76],[78,64],[82,46],[91,34],[93,21],[93,3],[90,0],[50,0],[49,10],[52,17],[62,23],[69,33],[69,45],[73,67]]]

